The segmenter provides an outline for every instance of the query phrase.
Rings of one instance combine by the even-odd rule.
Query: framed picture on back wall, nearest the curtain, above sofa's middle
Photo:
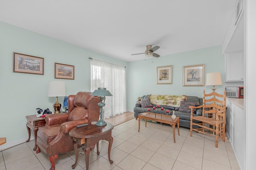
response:
[[[172,66],[156,67],[156,84],[172,84]]]

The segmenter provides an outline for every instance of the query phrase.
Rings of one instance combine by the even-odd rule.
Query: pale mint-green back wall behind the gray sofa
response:
[[[183,66],[205,64],[205,77],[209,72],[220,72],[225,78],[225,60],[221,46],[187,51],[158,58],[147,58],[128,64],[128,110],[132,111],[137,98],[146,94],[170,94],[203,96],[203,90],[210,93],[212,86],[183,87]],[[156,67],[172,65],[172,84],[156,84]],[[206,80],[206,79],[205,79]],[[216,92],[223,94],[224,85],[216,86]]]

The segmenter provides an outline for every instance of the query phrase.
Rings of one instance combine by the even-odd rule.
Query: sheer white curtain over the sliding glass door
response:
[[[104,118],[120,115],[126,111],[125,67],[92,59],[91,91],[107,88],[113,96],[106,96]]]

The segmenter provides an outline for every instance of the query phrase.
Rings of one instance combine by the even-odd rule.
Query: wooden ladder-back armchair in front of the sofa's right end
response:
[[[206,97],[212,97],[206,99]],[[216,98],[218,97],[218,98]],[[222,98],[223,100],[219,100]],[[202,116],[193,116],[193,109],[202,107]],[[203,96],[202,106],[190,106],[190,137],[192,137],[192,131],[202,133],[211,137],[215,137],[215,147],[218,148],[218,139],[222,138],[225,142],[225,125],[226,125],[226,90],[224,94],[218,94],[212,92]],[[200,121],[201,123],[194,123],[193,120]],[[199,126],[199,128],[193,129],[193,125]],[[206,132],[210,131],[212,133]]]

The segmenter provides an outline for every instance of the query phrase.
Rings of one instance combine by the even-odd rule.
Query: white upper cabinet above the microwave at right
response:
[[[226,82],[244,81],[244,52],[225,55]]]

